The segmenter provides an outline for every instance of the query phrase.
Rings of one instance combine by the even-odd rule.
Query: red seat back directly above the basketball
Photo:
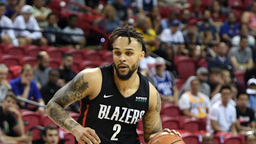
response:
[[[174,117],[164,117],[162,118],[162,128],[179,129],[180,122]]]

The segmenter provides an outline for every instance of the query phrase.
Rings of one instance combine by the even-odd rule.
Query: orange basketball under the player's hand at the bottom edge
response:
[[[185,144],[181,137],[169,132],[161,132],[151,138],[148,144]]]

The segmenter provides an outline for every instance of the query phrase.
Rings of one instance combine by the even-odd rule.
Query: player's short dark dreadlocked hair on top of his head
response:
[[[124,28],[117,29],[112,32],[111,36],[109,38],[115,37],[114,41],[116,40],[117,37],[128,37],[129,39],[129,44],[131,42],[130,38],[133,37],[137,39],[137,41],[142,45],[142,51],[146,53],[146,43],[143,41],[143,33],[139,33],[136,31],[137,29],[126,25]]]

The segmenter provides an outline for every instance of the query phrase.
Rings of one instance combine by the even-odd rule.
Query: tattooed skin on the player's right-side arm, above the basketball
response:
[[[161,97],[159,93],[156,94],[157,103],[154,110],[151,110],[150,113],[146,113],[143,116],[143,131],[144,131],[144,140],[146,143],[149,141],[149,136],[151,134],[160,132],[162,130],[162,121],[160,118],[161,110]]]

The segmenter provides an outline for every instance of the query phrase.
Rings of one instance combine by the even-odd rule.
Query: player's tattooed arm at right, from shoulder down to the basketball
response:
[[[155,87],[149,86],[149,110],[142,117],[144,140],[149,141],[151,134],[162,130],[162,122],[160,118],[161,97]]]

